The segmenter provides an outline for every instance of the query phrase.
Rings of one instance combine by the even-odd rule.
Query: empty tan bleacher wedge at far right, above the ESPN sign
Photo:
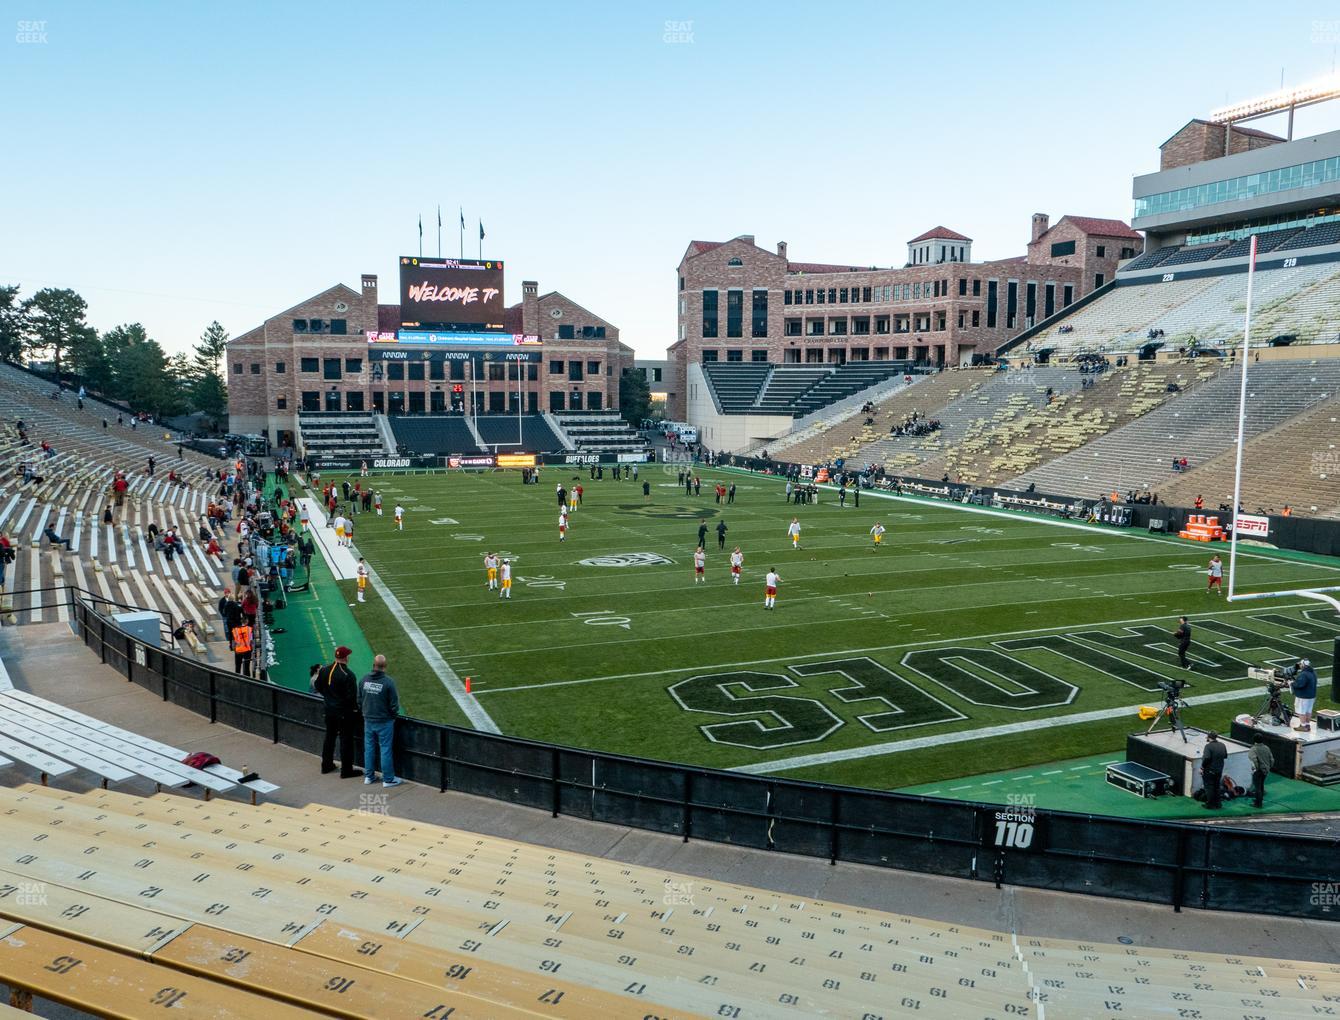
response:
[[[1233,503],[1234,446],[1164,481],[1159,499],[1191,507]],[[1249,440],[1242,450],[1242,505],[1277,512],[1285,504],[1309,517],[1340,517],[1340,399],[1329,399]]]

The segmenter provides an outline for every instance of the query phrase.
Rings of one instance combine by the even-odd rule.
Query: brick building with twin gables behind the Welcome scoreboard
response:
[[[619,377],[632,367],[616,326],[557,291],[540,294],[533,280],[504,326],[540,336],[540,361],[430,359],[452,348],[368,342],[399,326],[399,306],[379,304],[377,276],[364,275],[358,291],[336,284],[233,338],[229,428],[285,444],[303,410],[442,414],[472,399],[477,414],[515,414],[519,399],[528,413],[602,410],[619,406]],[[390,350],[405,357],[382,361]]]

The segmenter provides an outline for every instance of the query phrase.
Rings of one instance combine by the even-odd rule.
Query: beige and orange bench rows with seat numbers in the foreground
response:
[[[336,1016],[871,1016],[895,1000],[1177,1016],[1268,997],[1293,1017],[1340,992],[1336,964],[1020,940],[319,804],[21,785],[0,810],[15,846],[40,843],[0,873],[0,917],[23,926],[0,938],[0,980],[58,1001],[80,996],[39,964],[84,946],[107,954],[88,968],[105,993],[122,960],[149,960]],[[20,894],[35,882],[43,897]]]

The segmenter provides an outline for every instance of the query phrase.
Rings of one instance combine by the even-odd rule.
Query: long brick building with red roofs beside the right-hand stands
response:
[[[1140,236],[1119,220],[1033,216],[1026,255],[973,261],[970,237],[935,227],[900,268],[791,261],[753,235],[691,241],[678,267],[667,413],[686,414],[687,366],[913,359],[954,366],[1110,281]]]

